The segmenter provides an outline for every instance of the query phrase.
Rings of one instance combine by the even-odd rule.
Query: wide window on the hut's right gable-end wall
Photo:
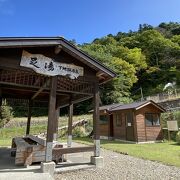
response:
[[[145,120],[147,126],[158,126],[160,125],[159,122],[159,115],[156,113],[146,113]]]

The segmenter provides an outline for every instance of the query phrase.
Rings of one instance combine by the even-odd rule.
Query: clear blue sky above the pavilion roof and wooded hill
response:
[[[180,22],[180,0],[0,0],[0,36],[63,36],[77,43]]]

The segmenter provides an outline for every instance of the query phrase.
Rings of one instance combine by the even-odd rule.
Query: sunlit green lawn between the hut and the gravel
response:
[[[76,138],[76,142],[92,144],[92,140],[88,138]],[[118,141],[101,140],[101,147],[119,153],[128,153],[138,158],[180,167],[180,146],[175,142],[127,144]]]

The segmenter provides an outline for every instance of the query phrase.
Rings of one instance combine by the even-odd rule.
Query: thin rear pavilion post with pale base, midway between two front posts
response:
[[[67,146],[71,147],[72,145],[72,118],[73,118],[73,103],[72,97],[69,101],[69,119],[68,119],[68,137],[67,137]]]

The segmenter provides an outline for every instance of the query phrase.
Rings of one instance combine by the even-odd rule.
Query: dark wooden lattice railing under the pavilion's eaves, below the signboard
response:
[[[49,77],[22,70],[0,70],[0,84],[30,88],[49,88]],[[93,94],[91,78],[70,79],[58,76],[57,90],[66,93]]]

